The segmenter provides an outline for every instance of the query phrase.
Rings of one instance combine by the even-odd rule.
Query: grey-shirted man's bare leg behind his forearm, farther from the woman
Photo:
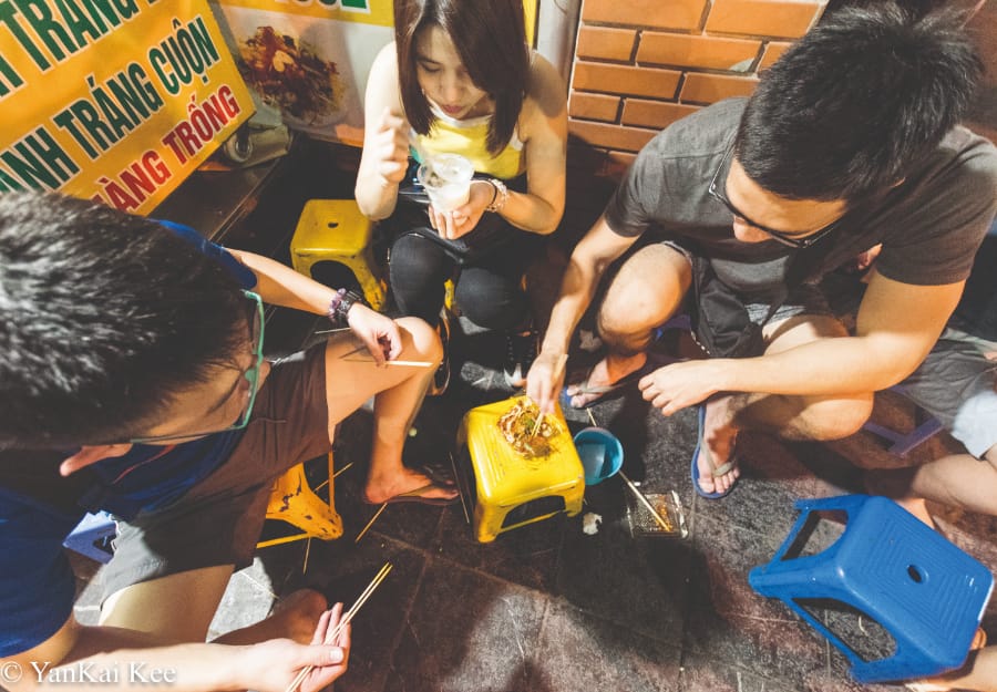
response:
[[[826,316],[799,316],[767,324],[765,353],[778,353],[815,341],[847,335],[844,326]],[[837,440],[862,427],[872,413],[873,393],[852,396],[784,396],[736,393],[711,399],[706,409],[699,485],[706,493],[726,490],[737,479],[737,466],[713,476],[712,469],[730,459],[738,431],[753,430],[788,440]]]

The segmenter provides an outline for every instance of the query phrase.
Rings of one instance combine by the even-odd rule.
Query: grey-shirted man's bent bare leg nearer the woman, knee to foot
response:
[[[568,385],[572,406],[585,406],[602,395],[599,388],[644,366],[651,330],[675,314],[691,280],[689,260],[660,244],[641,248],[620,267],[598,312],[599,337],[608,353],[586,382]]]

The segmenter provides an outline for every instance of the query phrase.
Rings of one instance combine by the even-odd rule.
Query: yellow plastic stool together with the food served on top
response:
[[[537,425],[526,396],[479,406],[461,421],[462,465],[473,471],[467,489],[474,535],[489,543],[513,528],[582,512],[585,472],[558,407]],[[470,483],[473,481],[473,483]]]

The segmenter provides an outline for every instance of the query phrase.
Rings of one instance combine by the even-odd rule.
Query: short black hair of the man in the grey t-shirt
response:
[[[856,203],[900,183],[955,126],[983,73],[963,16],[844,8],[761,76],[736,141],[752,180]]]

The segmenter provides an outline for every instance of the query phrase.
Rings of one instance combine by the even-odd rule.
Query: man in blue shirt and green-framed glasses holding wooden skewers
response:
[[[269,363],[264,302],[348,329]],[[35,686],[39,668],[102,689],[147,689],[142,671],[155,670],[171,690],[281,692],[310,664],[311,692],[342,674],[348,628],[335,645],[307,645],[340,617],[322,614],[315,591],[204,641],[229,577],[251,561],[274,479],[327,453],[370,397],[363,499],[455,497],[402,464],[441,358],[432,329],[183,226],[0,195],[0,683],[11,690]],[[383,366],[400,359],[429,366]],[[120,519],[119,536],[101,623],[82,627],[61,544],[99,509]]]

